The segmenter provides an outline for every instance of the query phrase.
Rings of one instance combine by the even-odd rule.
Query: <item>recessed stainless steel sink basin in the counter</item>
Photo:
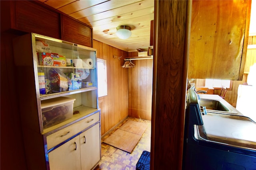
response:
[[[218,100],[210,100],[210,99],[200,99],[200,106],[205,106],[206,109],[209,110],[217,110],[217,111],[230,111],[224,104],[222,104]]]

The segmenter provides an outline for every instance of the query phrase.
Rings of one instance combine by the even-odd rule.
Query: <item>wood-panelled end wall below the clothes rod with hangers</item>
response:
[[[128,69],[129,116],[151,120],[153,60],[134,60]]]

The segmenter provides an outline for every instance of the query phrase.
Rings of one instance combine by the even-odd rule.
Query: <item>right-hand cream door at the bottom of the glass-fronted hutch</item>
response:
[[[100,123],[80,134],[82,170],[90,170],[100,160]]]

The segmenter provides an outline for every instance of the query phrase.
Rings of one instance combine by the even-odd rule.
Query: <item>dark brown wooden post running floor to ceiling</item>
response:
[[[182,169],[190,12],[190,1],[155,1],[152,170]]]

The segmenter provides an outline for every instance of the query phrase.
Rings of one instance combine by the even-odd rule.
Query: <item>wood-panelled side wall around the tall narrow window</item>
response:
[[[128,116],[128,70],[122,68],[128,52],[122,51],[100,41],[93,40],[97,58],[106,60],[108,95],[100,97],[101,135]],[[113,56],[122,56],[119,60]]]

